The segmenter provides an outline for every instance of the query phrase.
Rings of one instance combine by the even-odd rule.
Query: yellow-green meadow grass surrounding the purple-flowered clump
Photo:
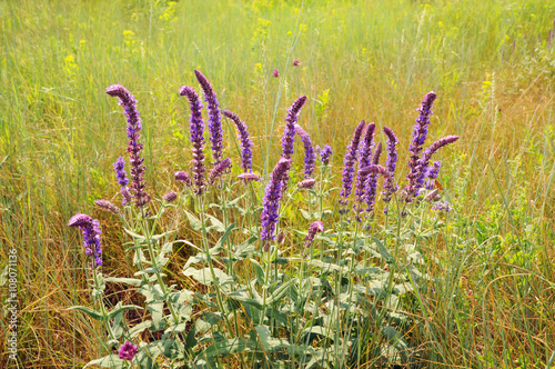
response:
[[[545,368],[555,352],[554,19],[542,0],[0,2],[0,257],[18,250],[21,367],[82,367],[101,355],[93,323],[67,310],[89,296],[81,241],[65,223],[78,211],[108,219],[92,200],[117,202],[111,167],[125,128],[105,87],[139,100],[148,186],[165,193],[190,160],[178,91],[196,86],[198,68],[248,122],[264,176],[285,109],[303,93],[300,123],[332,144],[336,169],[365,119],[396,131],[405,173],[415,108],[435,90],[430,136],[461,137],[441,153],[455,211],[425,242],[442,282],[415,305],[427,329],[412,339],[434,348],[430,367]],[[104,270],[127,275],[121,229],[103,225]]]

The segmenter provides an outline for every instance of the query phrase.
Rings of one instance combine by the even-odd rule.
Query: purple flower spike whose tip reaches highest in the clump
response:
[[[218,103],[218,99],[215,97],[214,90],[210,84],[209,80],[204,74],[200,71],[194,70],[194,74],[196,76],[196,80],[201,84],[202,91],[204,92],[204,101],[208,107],[208,116],[209,116],[209,131],[210,131],[210,141],[212,141],[212,158],[214,159],[214,164],[219,163],[222,158],[222,121],[220,119],[220,104]]]

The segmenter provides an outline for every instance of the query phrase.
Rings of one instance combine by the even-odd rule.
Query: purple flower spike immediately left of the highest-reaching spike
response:
[[[191,143],[193,151],[193,167],[191,172],[193,173],[193,184],[194,193],[202,195],[204,192],[204,171],[206,170],[204,166],[204,123],[202,121],[202,103],[199,99],[199,94],[189,86],[184,86],[180,89],[179,93],[189,99],[189,104],[191,106]]]

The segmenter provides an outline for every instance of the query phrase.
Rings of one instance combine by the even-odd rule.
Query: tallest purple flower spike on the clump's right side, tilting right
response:
[[[421,177],[418,168],[420,153],[422,151],[422,146],[426,141],[430,116],[432,114],[432,104],[436,98],[437,96],[434,91],[426,93],[422,100],[421,107],[417,109],[420,111],[420,116],[416,119],[416,124],[414,124],[413,138],[411,146],[408,147],[408,151],[411,152],[411,157],[408,158],[408,174],[406,176],[408,184],[406,184],[403,190],[403,198],[405,202],[412,202],[416,196],[416,190],[418,188],[417,181]]]

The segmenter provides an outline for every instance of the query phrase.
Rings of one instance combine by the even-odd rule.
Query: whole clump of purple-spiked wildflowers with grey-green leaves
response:
[[[294,66],[299,63],[295,61]],[[134,253],[132,260],[138,271],[134,278],[104,277],[100,223],[82,213],[71,217],[68,226],[79,228],[83,235],[98,310],[81,306],[73,309],[99,320],[107,332],[105,337],[98,337],[105,338],[108,356],[90,365],[208,368],[219,367],[225,357],[236,355],[241,359],[233,362],[243,362],[245,367],[278,367],[280,362],[287,362],[289,367],[305,367],[310,362],[313,368],[361,367],[364,352],[381,352],[380,346],[370,349],[375,340],[369,332],[381,335],[382,340],[398,337],[402,345],[394,346],[396,355],[404,365],[410,362],[410,355],[414,352],[404,338],[407,335],[401,332],[404,328],[390,323],[402,315],[401,308],[395,311],[390,303],[377,311],[382,303],[375,303],[371,312],[367,303],[361,301],[367,301],[369,281],[372,286],[382,286],[372,291],[376,302],[382,296],[384,301],[395,301],[400,307],[402,301],[410,300],[401,299],[410,293],[406,288],[410,279],[404,276],[406,268],[402,267],[408,263],[397,261],[401,256],[387,251],[392,242],[387,237],[394,233],[387,228],[387,217],[383,231],[371,227],[379,220],[374,209],[380,198],[380,181],[383,179],[381,199],[385,213],[404,215],[411,202],[414,208],[452,210],[447,202],[440,201],[440,191],[433,187],[441,161],[431,162],[442,147],[458,137],[447,136],[424,148],[435,93],[426,94],[420,108],[410,146],[410,173],[400,201],[392,202],[400,189],[395,179],[397,137],[384,127],[383,144],[376,134],[380,132],[376,124],[361,121],[346,148],[340,205],[334,207],[325,201],[335,191],[332,147],[314,147],[307,129],[300,122],[301,110],[307,101],[305,96],[297,98],[287,110],[281,157],[273,170],[262,177],[253,171],[253,142],[245,122],[231,110],[220,110],[212,84],[198,70],[195,77],[203,92],[208,120],[203,120],[198,92],[192,87],[181,87],[180,96],[186,98],[190,107],[191,164],[175,171],[175,188],[154,200],[145,188],[137,100],[120,84],[107,89],[108,94],[120,99],[127,116],[130,178],[125,160],[118,158],[113,170],[123,208],[104,199],[94,203],[122,221],[128,237],[125,245],[130,246],[127,251]],[[222,114],[236,128],[241,161],[235,167],[224,152]],[[204,152],[205,124],[213,159],[209,168]],[[294,156],[295,136],[304,148],[302,161]],[[382,153],[386,156],[384,164],[380,163]],[[317,168],[316,158],[322,163]],[[294,168],[301,162],[302,171],[295,173]],[[239,180],[233,179],[231,172],[235,172]],[[300,178],[300,182],[287,192],[290,176]],[[353,187],[352,209],[356,221],[351,221],[347,215]],[[397,207],[389,209],[392,205]],[[189,220],[192,231],[180,232],[182,221],[172,221],[171,228],[162,231],[168,209],[184,215],[182,219]],[[334,217],[337,213],[340,216]],[[306,220],[301,228],[287,221],[296,219],[295,215]],[[339,222],[334,223],[337,218]],[[403,217],[398,219],[396,227],[401,232]],[[403,227],[406,228],[411,227]],[[192,237],[181,239],[178,233]],[[376,236],[385,241],[381,242]],[[398,239],[408,237],[400,235]],[[189,290],[178,283],[168,285],[167,268],[176,260],[170,257],[176,252],[175,243],[198,252],[182,266],[181,275],[193,281],[183,286],[200,288]],[[294,263],[300,263],[300,268],[291,267]],[[282,269],[282,265],[287,265],[286,269]],[[176,267],[181,266],[172,266]],[[240,272],[250,268],[252,273]],[[103,298],[105,283],[134,288],[143,296],[144,308],[119,302],[108,311]],[[127,320],[129,310],[142,309],[148,311],[147,320],[138,325]],[[369,319],[370,316],[373,319]],[[150,336],[143,335],[147,330]],[[357,345],[352,345],[354,341]],[[362,349],[363,345],[369,348]]]

